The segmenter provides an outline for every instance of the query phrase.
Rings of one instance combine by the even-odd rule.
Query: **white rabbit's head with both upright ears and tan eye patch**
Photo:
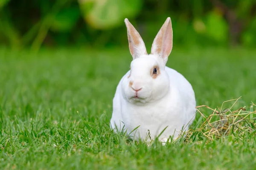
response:
[[[169,91],[165,65],[172,51],[172,23],[168,17],[154,39],[151,54],[134,26],[125,19],[129,49],[133,60],[131,70],[122,81],[122,94],[131,103],[143,104],[163,98]]]

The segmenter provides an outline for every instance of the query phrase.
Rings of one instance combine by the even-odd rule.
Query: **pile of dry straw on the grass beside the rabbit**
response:
[[[241,99],[241,97],[239,99]],[[191,141],[195,136],[205,136],[209,141],[212,141],[230,135],[236,136],[242,140],[245,135],[255,133],[256,105],[252,103],[250,111],[247,111],[245,107],[233,110],[233,106],[239,99],[225,101],[235,101],[230,108],[225,109],[223,109],[223,105],[225,103],[223,102],[221,108],[218,108],[218,111],[217,109],[212,109],[207,105],[197,106],[196,109],[198,113],[201,114],[205,121],[200,125],[200,127],[197,127],[194,130],[190,129],[186,132],[186,141]],[[208,117],[204,116],[200,111],[201,108],[211,110],[212,114]]]

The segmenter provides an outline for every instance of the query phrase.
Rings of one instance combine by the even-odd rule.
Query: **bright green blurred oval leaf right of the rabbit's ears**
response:
[[[207,15],[205,26],[209,37],[218,42],[227,41],[228,25],[218,11],[212,11]]]

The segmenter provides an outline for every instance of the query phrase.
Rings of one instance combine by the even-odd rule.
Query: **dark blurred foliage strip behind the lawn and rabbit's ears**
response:
[[[174,45],[256,45],[256,0],[0,0],[0,45],[127,46],[126,17],[146,46],[166,17]]]

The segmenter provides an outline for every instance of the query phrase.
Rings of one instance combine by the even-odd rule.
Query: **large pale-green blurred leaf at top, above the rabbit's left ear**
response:
[[[97,29],[120,25],[125,17],[134,17],[142,7],[142,0],[79,0],[84,19]]]

